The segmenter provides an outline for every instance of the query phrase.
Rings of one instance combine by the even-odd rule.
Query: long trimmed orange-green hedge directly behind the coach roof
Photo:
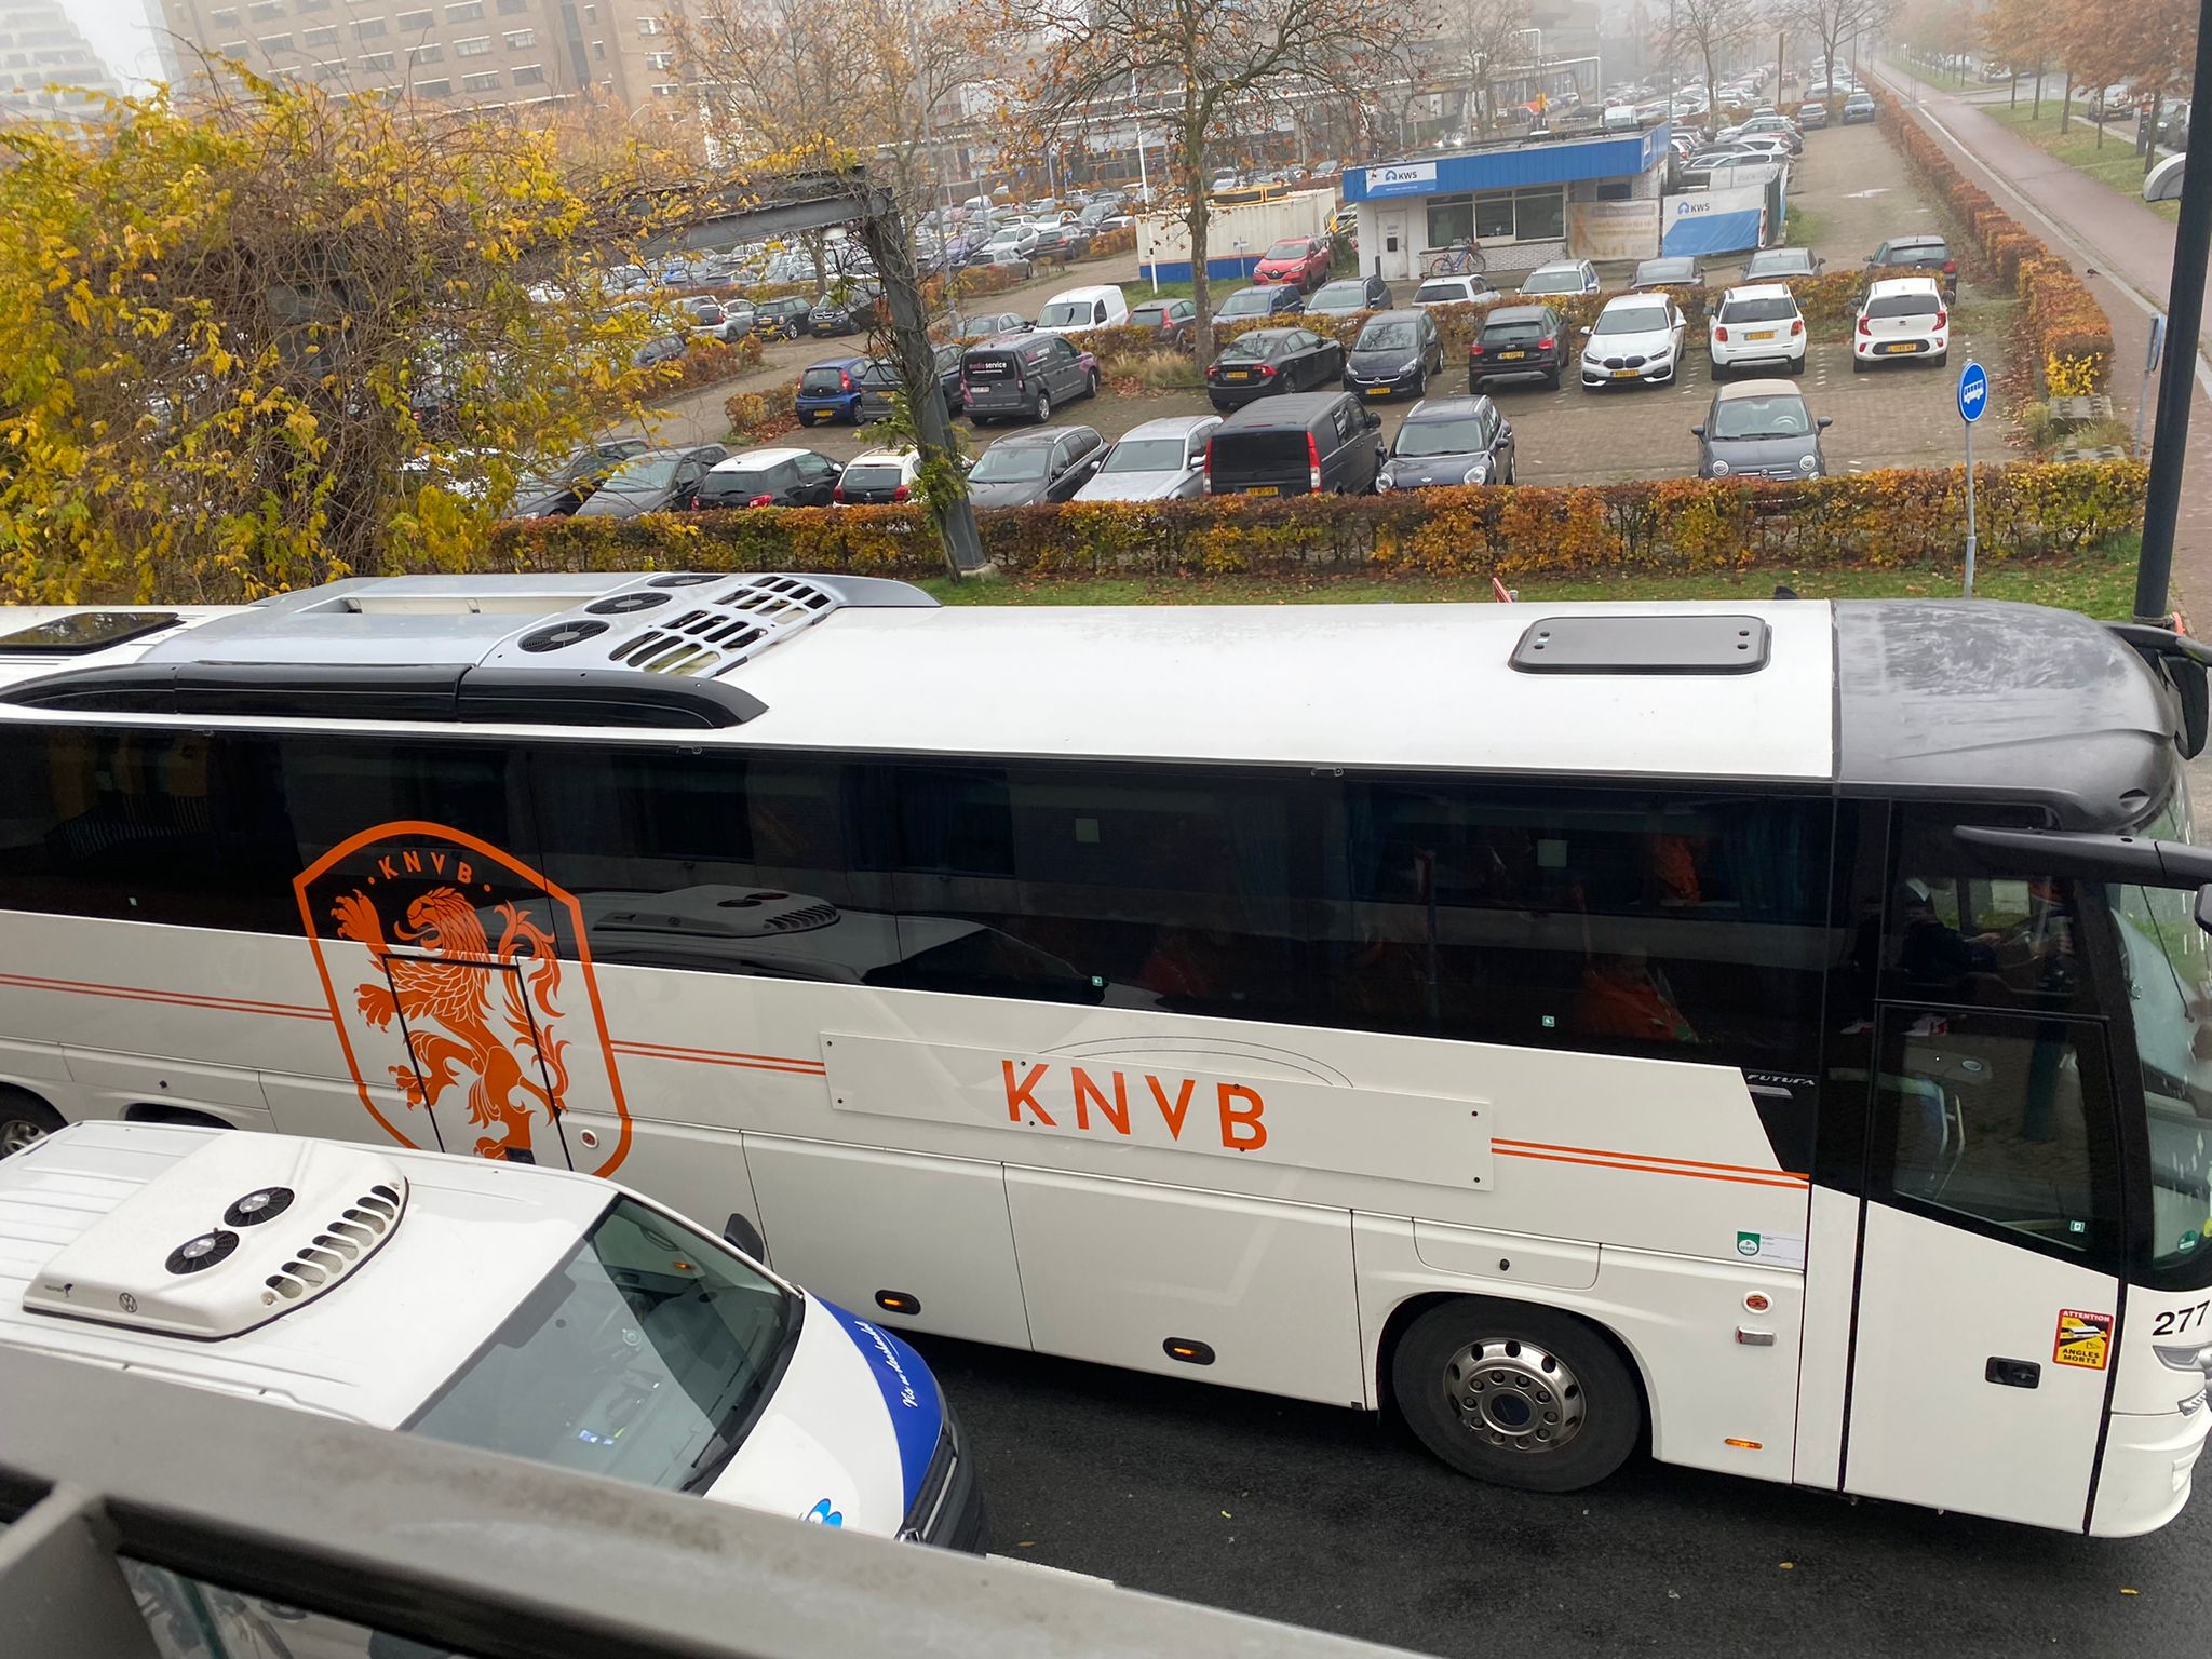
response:
[[[1984,560],[2062,557],[2141,520],[2135,460],[1978,469]],[[1243,495],[1071,502],[978,515],[1004,575],[1601,575],[1761,566],[1900,566],[1958,557],[1964,469],[1876,471],[1790,484],[1668,478],[1582,489],[1420,489],[1389,495]],[[502,524],[487,568],[841,571],[940,575],[911,507],[555,518]]]

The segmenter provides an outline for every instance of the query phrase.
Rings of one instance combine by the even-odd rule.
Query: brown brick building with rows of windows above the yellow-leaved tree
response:
[[[0,0],[4,4],[7,0]],[[675,97],[668,0],[159,0],[188,60],[493,108]]]

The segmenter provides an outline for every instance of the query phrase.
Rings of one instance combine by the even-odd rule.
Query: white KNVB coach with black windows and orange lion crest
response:
[[[2002,604],[0,613],[0,1144],[535,1159],[887,1325],[2143,1533],[2203,653]]]

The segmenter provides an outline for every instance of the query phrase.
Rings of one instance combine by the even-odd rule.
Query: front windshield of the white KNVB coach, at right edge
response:
[[[2190,841],[2188,785],[2139,834]],[[2177,887],[2108,887],[2119,922],[2135,1048],[2150,1128],[2150,1265],[2161,1279],[2212,1279],[2212,936],[2197,896]]]

